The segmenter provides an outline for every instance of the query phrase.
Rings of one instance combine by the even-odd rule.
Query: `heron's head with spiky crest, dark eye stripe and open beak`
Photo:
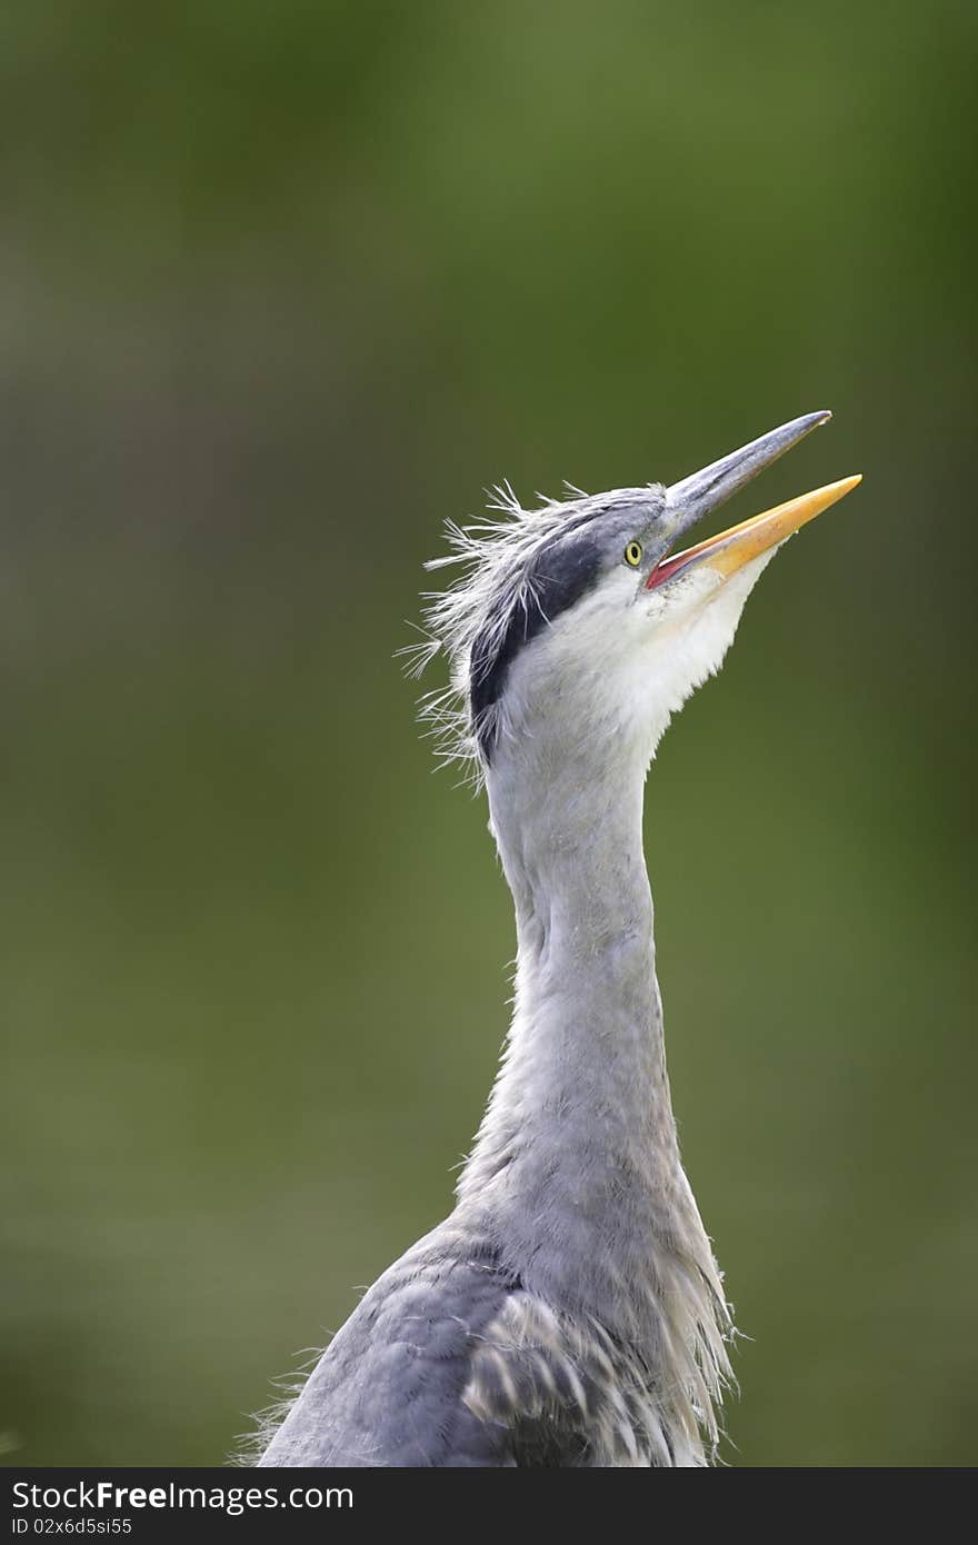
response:
[[[533,511],[507,487],[496,507],[508,519],[450,527],[454,552],[433,567],[470,567],[431,598],[428,620],[451,655],[467,745],[484,768],[521,754],[565,763],[609,735],[652,756],[669,717],[720,667],[774,552],[859,477],[678,550],[683,536],[830,417],[794,419],[672,487]]]

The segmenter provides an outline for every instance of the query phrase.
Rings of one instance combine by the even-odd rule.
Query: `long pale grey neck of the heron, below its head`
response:
[[[640,749],[618,748],[488,776],[516,907],[516,995],[459,1185],[535,1290],[626,1318],[647,1304],[664,1250],[712,1270],[666,1075],[644,772]]]

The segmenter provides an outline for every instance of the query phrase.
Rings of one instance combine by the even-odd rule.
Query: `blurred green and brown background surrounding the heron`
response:
[[[976,36],[956,0],[5,5],[8,1465],[221,1462],[450,1207],[513,932],[392,661],[440,522],[822,406],[731,518],[865,484],[647,797],[754,1338],[726,1458],[978,1457]]]

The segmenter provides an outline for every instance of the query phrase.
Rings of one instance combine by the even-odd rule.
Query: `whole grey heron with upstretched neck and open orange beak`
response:
[[[811,413],[666,488],[450,525],[431,715],[471,756],[516,910],[513,1020],[450,1217],[363,1296],[260,1465],[715,1457],[731,1310],[680,1160],[643,857],[669,718],[774,552],[847,477],[681,552]],[[496,518],[501,514],[502,518]]]

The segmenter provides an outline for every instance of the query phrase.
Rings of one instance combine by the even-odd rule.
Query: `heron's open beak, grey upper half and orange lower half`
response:
[[[672,518],[672,536],[680,536],[691,525],[695,525],[697,521],[715,510],[731,494],[743,488],[751,477],[756,477],[759,471],[769,467],[828,419],[831,419],[830,413],[810,413],[802,419],[793,419],[780,430],[762,434],[759,440],[732,451],[703,471],[694,473],[692,477],[674,484],[666,494],[666,519]],[[680,572],[692,569],[694,564],[714,569],[723,578],[729,578],[743,564],[760,558],[771,547],[777,547],[799,527],[814,521],[822,510],[828,510],[830,505],[844,499],[861,480],[861,476],[844,477],[825,488],[816,488],[814,493],[802,494],[800,499],[790,499],[773,510],[765,510],[763,514],[742,521],[740,525],[720,531],[718,536],[711,536],[681,553],[667,553],[649,575],[646,589],[655,590]]]

